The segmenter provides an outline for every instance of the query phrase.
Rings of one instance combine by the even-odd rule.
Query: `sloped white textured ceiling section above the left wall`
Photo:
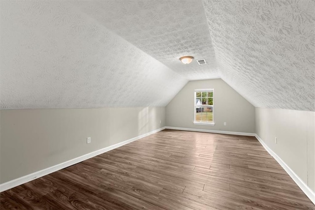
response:
[[[62,1],[1,1],[1,109],[165,106],[187,79]]]

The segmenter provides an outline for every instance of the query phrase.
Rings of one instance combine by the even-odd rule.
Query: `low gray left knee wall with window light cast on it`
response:
[[[165,107],[0,110],[0,118],[3,183],[161,128]]]

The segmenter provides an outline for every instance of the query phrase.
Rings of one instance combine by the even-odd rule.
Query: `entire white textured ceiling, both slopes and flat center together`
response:
[[[0,1],[1,109],[165,106],[222,78],[315,111],[314,0]],[[205,59],[182,64],[182,56]]]

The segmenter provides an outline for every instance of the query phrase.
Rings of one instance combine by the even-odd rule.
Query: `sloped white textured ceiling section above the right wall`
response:
[[[255,107],[315,111],[314,0],[204,0],[221,78]]]

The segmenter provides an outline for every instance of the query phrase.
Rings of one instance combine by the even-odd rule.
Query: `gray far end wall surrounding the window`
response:
[[[195,89],[214,89],[215,125],[193,124]],[[221,79],[190,81],[166,106],[166,116],[166,126],[255,133],[254,106]]]

